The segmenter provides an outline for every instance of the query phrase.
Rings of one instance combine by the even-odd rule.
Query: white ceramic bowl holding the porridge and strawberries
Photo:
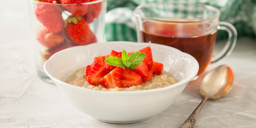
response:
[[[147,46],[151,47],[153,60],[163,63],[164,70],[179,81],[177,84],[153,90],[106,92],[65,83],[77,69],[91,65],[94,57],[109,54],[111,50],[131,52]],[[70,47],[55,53],[44,64],[45,73],[76,108],[108,123],[135,123],[162,113],[196,76],[198,68],[195,58],[173,47],[134,42],[106,42]]]

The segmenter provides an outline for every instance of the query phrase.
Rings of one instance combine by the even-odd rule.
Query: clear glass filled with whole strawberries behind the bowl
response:
[[[44,62],[56,52],[103,42],[107,0],[29,0],[39,77],[52,83]]]

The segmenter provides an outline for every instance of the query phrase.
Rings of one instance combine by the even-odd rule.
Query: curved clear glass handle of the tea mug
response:
[[[217,28],[218,30],[226,30],[228,32],[228,41],[226,45],[223,47],[223,49],[220,51],[219,54],[214,55],[212,58],[212,62],[217,62],[220,59],[228,56],[234,49],[236,45],[236,40],[237,40],[237,31],[236,28],[228,22],[220,22],[220,25]]]

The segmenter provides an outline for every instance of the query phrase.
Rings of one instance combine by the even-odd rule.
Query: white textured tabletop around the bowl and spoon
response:
[[[197,81],[170,108],[147,121],[108,124],[84,115],[57,86],[37,77],[28,14],[25,0],[0,1],[0,127],[179,127],[201,102]],[[221,45],[219,42],[216,49]],[[233,89],[225,97],[207,102],[196,126],[256,127],[256,40],[239,38],[233,53],[209,70],[222,64],[234,70]]]

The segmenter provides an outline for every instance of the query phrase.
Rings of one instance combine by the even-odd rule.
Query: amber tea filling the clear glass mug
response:
[[[138,42],[151,42],[175,47],[192,55],[199,63],[198,74],[210,65],[217,30],[211,31],[210,24],[171,24],[146,21],[142,23]]]

